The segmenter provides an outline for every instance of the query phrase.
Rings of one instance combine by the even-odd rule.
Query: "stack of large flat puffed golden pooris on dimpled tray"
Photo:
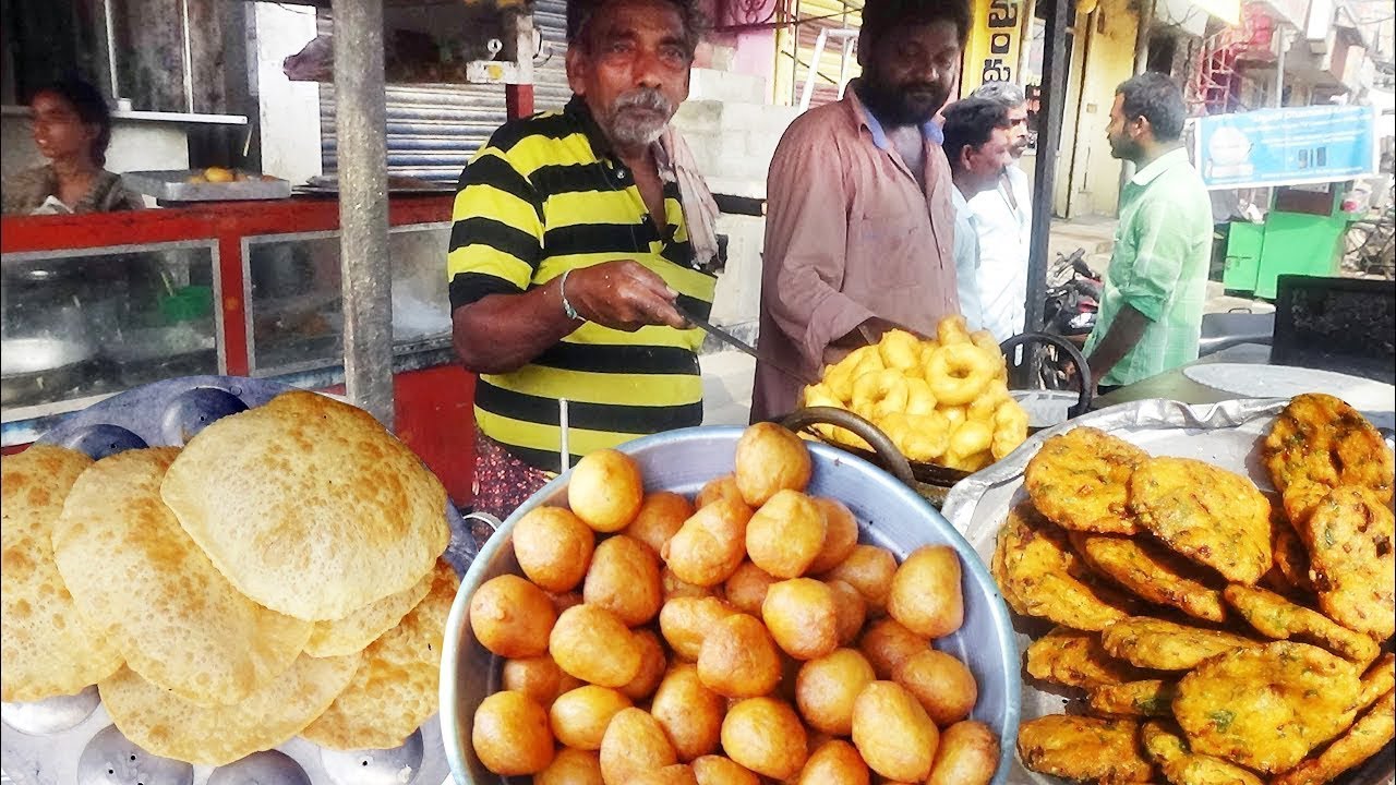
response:
[[[130,740],[208,765],[436,712],[445,490],[369,413],[286,392],[183,448],[3,468],[4,700],[95,683]]]

